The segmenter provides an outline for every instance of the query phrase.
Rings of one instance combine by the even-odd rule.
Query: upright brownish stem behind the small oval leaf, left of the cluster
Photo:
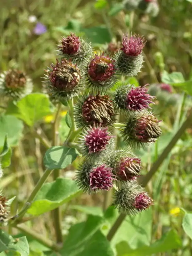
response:
[[[59,145],[59,131],[58,130],[59,130],[59,117],[60,117],[61,108],[62,108],[62,104],[59,103],[57,112],[55,114],[55,120],[53,123],[53,141],[52,141],[53,146]],[[55,169],[53,171],[53,178],[54,178],[54,180],[59,178],[59,169]],[[61,212],[60,212],[59,207],[52,211],[52,216],[53,216],[53,222],[54,222],[54,228],[55,228],[56,241],[57,241],[57,243],[62,243],[63,236],[62,236],[62,229],[61,229]]]

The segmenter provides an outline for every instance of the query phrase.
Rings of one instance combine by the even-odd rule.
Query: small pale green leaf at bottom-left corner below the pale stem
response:
[[[8,250],[15,251],[21,256],[29,255],[29,245],[26,236],[17,238],[14,243],[9,244]]]

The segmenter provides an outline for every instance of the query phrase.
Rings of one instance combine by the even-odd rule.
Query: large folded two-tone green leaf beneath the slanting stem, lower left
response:
[[[74,180],[58,178],[41,187],[27,212],[36,216],[43,214],[63,205],[80,193],[81,190]]]

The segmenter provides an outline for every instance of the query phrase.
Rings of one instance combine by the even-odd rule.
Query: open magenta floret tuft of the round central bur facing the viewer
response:
[[[107,127],[94,127],[88,131],[85,136],[85,145],[88,147],[89,153],[101,152],[106,148],[112,137],[107,130]]]

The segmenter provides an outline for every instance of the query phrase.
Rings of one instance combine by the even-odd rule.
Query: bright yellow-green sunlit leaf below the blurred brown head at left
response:
[[[41,93],[32,93],[16,103],[10,103],[6,112],[6,114],[20,118],[28,126],[33,126],[50,113],[50,100],[47,95]]]

